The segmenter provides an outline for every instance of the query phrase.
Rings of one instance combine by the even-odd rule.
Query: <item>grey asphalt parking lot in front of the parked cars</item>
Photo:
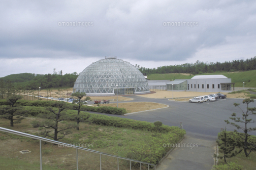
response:
[[[234,103],[240,103],[240,107],[243,110],[246,109],[246,105],[242,104],[243,99],[225,98],[198,104],[169,101],[168,99],[144,98],[141,96],[131,96],[131,98],[134,99],[131,102],[157,102],[169,105],[170,107],[131,114],[125,116],[125,118],[149,122],[161,121],[170,126],[179,126],[180,122],[182,122],[183,129],[185,129],[187,133],[196,133],[204,136],[211,136],[212,138],[215,138],[218,132],[220,132],[220,129],[225,128],[226,126],[228,131],[233,131],[235,129],[234,126],[229,125],[224,121],[228,120],[234,112],[239,116],[241,115],[241,110],[238,107],[235,107],[233,105]],[[251,103],[249,107],[256,107],[256,102]],[[120,115],[109,116],[123,117]],[[251,118],[256,120],[256,115],[252,115]],[[256,135],[255,132],[253,132],[253,134]]]

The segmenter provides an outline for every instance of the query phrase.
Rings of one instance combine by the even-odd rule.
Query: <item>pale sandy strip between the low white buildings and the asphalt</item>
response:
[[[172,92],[172,91],[158,91],[154,94],[140,95],[147,98],[185,98],[185,97],[197,97],[202,95],[209,95],[210,92]],[[222,93],[227,94],[227,93]]]

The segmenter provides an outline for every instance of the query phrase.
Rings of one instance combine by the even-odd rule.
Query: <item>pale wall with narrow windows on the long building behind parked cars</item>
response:
[[[186,80],[187,80],[187,91],[189,92],[230,92],[230,91],[221,91],[220,83],[231,82],[231,78],[212,78],[212,79],[207,78],[207,79],[186,79]],[[192,88],[191,88],[191,84],[192,84]],[[195,88],[195,84],[196,84],[196,88]],[[207,84],[209,84],[209,87],[207,87]],[[214,87],[213,87],[213,84],[214,84]],[[219,87],[218,87],[218,84],[219,84]]]

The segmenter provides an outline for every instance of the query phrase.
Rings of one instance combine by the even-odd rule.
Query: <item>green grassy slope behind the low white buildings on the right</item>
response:
[[[215,73],[202,73],[197,75],[216,75],[222,74],[235,82],[235,87],[243,87],[245,82],[245,88],[256,88],[256,70],[243,71],[243,72],[215,72]],[[183,74],[150,74],[148,79],[150,80],[175,80],[175,79],[190,79],[194,75],[183,75]]]

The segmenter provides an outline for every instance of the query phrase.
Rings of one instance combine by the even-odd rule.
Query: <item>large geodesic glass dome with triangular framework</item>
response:
[[[105,57],[91,63],[77,77],[73,92],[88,96],[150,93],[148,83],[138,68],[129,62]]]

